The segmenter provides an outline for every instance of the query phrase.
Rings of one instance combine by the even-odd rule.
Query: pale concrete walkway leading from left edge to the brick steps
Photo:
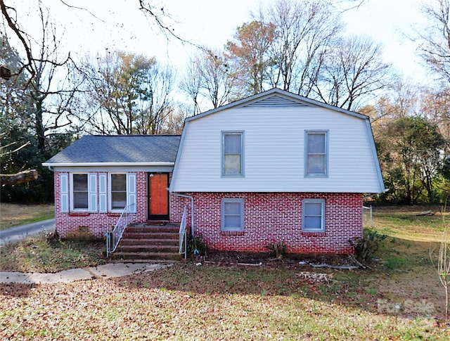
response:
[[[111,278],[128,276],[132,274],[142,274],[148,271],[164,269],[167,266],[172,266],[172,264],[109,263],[82,269],[64,270],[55,274],[1,271],[0,283],[69,283],[86,279]]]

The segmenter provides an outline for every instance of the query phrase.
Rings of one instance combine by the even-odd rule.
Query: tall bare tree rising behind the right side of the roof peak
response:
[[[276,26],[271,44],[272,85],[309,96],[323,53],[342,30],[338,14],[325,1],[278,0],[268,8],[266,18],[260,17]]]

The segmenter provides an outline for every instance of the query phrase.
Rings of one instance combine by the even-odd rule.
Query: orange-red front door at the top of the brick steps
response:
[[[148,220],[169,219],[169,174],[148,174]]]

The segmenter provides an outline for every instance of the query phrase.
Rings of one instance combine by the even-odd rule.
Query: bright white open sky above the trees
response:
[[[191,46],[167,39],[139,11],[138,0],[64,0],[79,8],[68,8],[60,0],[42,0],[56,21],[61,46],[72,56],[123,50],[155,56],[160,63],[182,68],[192,53]],[[405,77],[423,82],[427,72],[420,67],[415,46],[406,35],[426,25],[420,14],[421,0],[365,0],[345,11],[348,34],[367,34],[384,46],[384,58]],[[6,0],[18,10],[26,32],[38,34],[33,5],[37,1]],[[271,0],[154,0],[156,12],[171,15],[174,33],[194,43],[221,49],[232,39],[236,27],[250,20],[250,11]],[[334,1],[334,3],[339,1]],[[88,13],[89,10],[90,13]],[[92,14],[94,15],[92,15]]]

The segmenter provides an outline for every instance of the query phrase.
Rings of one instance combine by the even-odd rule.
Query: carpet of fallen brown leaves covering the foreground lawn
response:
[[[376,297],[363,285],[355,288],[334,280],[309,283],[299,273],[290,266],[176,264],[124,278],[0,285],[0,338],[280,340],[302,335],[325,339],[449,335],[443,328],[432,330],[417,321],[378,314]],[[313,274],[309,271],[309,279]]]

